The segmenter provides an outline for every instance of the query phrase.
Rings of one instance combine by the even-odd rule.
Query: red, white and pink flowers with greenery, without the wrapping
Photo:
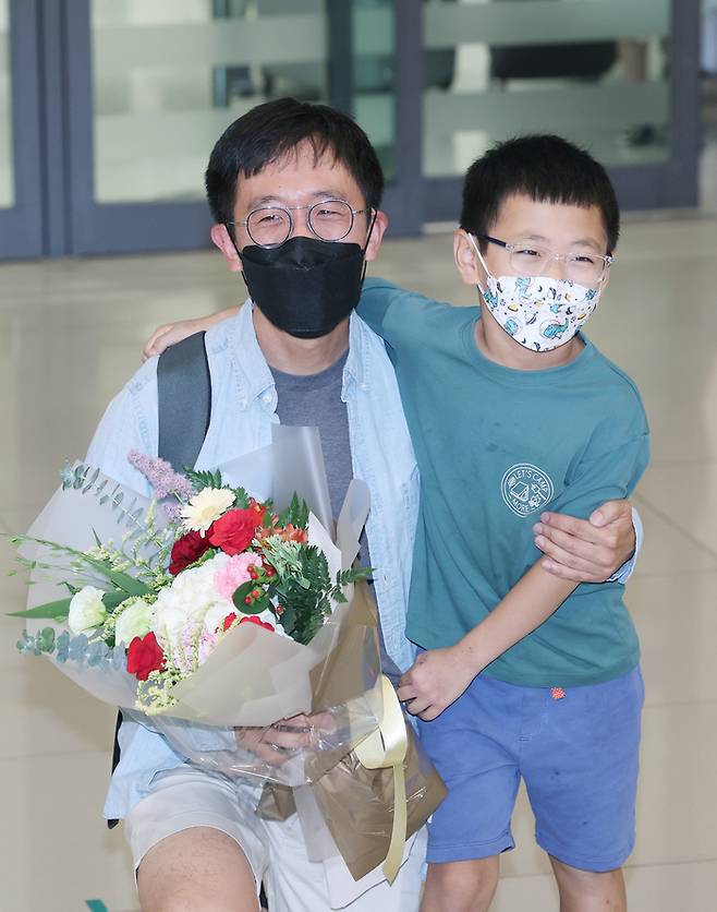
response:
[[[295,494],[276,513],[271,502],[224,483],[220,471],[178,473],[141,453],[129,458],[158,499],[172,499],[163,529],[157,528],[156,509],[137,512],[135,503],[122,514],[136,535],[125,535],[119,545],[97,539],[80,551],[32,536],[13,541],[46,549],[51,563],[24,562],[34,571],[64,569],[69,593],[17,612],[68,626],[59,636],[52,626],[35,636],[25,632],[21,651],[54,652],[60,662],[86,657],[95,667],[109,660],[126,669],[137,680],[134,709],[156,715],[175,707],[175,686],[242,624],[311,643],[336,604],[347,601],[347,587],[368,574],[349,568],[331,577],[326,554],[309,544],[308,507]],[[65,470],[63,488],[104,492],[98,479],[98,471],[77,464]],[[147,545],[155,545],[151,557]]]

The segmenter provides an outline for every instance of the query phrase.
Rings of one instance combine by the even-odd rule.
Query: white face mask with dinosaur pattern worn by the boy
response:
[[[570,279],[547,276],[490,274],[473,236],[475,252],[488,276],[484,301],[496,322],[519,345],[531,351],[552,351],[570,341],[587,323],[600,299],[600,288],[586,288]]]

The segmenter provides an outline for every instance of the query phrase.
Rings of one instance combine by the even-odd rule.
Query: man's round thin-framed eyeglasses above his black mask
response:
[[[246,228],[258,247],[280,247],[294,229],[292,213],[306,209],[308,230],[321,241],[342,241],[351,233],[354,217],[370,209],[352,209],[344,200],[321,200],[308,206],[260,206],[252,209],[244,221],[230,221]]]

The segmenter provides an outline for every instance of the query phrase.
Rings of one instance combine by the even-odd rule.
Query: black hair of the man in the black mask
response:
[[[361,127],[349,115],[327,105],[278,98],[252,108],[217,141],[205,175],[215,220],[233,220],[238,180],[258,175],[305,142],[313,146],[317,160],[328,154],[348,169],[367,206],[380,206],[384,172]]]

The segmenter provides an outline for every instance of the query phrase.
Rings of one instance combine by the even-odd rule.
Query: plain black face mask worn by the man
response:
[[[316,339],[358,303],[364,252],[355,243],[300,236],[270,250],[245,247],[242,274],[252,300],[277,328]]]

